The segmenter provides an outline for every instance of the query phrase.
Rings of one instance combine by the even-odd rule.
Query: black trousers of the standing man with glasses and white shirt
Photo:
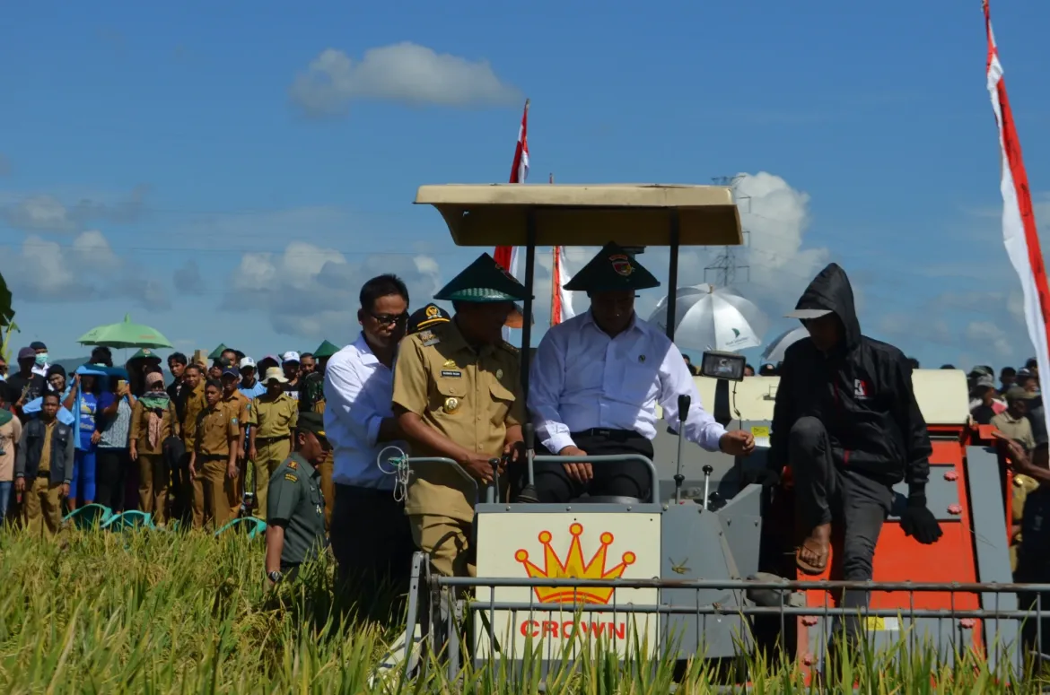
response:
[[[336,483],[329,536],[342,591],[363,604],[384,586],[397,594],[408,590],[416,545],[404,504],[391,490]]]

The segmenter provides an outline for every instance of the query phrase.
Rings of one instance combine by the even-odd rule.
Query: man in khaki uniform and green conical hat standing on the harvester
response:
[[[481,488],[492,479],[492,459],[522,449],[519,351],[502,329],[525,288],[482,254],[435,299],[450,300],[456,316],[401,341],[394,413],[414,457],[458,461]],[[475,490],[447,465],[413,466],[405,503],[413,540],[444,575],[474,574],[474,503]]]

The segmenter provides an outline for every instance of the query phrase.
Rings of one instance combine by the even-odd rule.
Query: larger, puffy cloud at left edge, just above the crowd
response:
[[[0,272],[19,302],[125,298],[151,310],[170,307],[164,285],[125,262],[98,230],[68,246],[30,234],[19,249],[0,248]]]

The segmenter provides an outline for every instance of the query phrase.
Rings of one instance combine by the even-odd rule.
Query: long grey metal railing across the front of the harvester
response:
[[[795,631],[795,637],[805,645],[798,645],[796,652],[800,658],[806,660],[806,665],[814,665],[821,661],[826,656],[826,649],[832,641],[836,631],[846,622],[856,620],[858,634],[864,639],[870,639],[870,635],[876,630],[865,627],[867,618],[883,619],[897,618],[900,623],[898,639],[907,639],[909,650],[915,648],[928,648],[930,637],[936,637],[932,641],[937,653],[947,660],[951,660],[953,655],[962,653],[960,648],[975,650],[989,661],[1002,662],[1007,659],[1014,665],[1020,664],[1020,655],[1025,647],[1032,651],[1036,658],[1050,659],[1045,656],[1043,649],[1044,620],[1050,618],[1050,613],[1044,608],[1044,594],[1050,601],[1050,584],[998,584],[998,583],[924,583],[924,582],[799,582],[799,581],[754,581],[754,580],[732,580],[732,581],[704,581],[704,580],[576,580],[576,578],[528,578],[528,577],[447,577],[417,575],[420,581],[419,586],[427,586],[432,595],[432,601],[443,604],[444,609],[440,611],[440,618],[437,613],[433,614],[432,620],[443,622],[445,647],[448,656],[449,676],[459,673],[460,650],[464,634],[461,634],[462,626],[470,625],[471,620],[465,617],[472,617],[475,625],[481,620],[483,630],[488,635],[488,658],[514,659],[522,658],[514,654],[514,635],[510,639],[503,639],[495,633],[497,626],[497,613],[510,614],[510,625],[518,625],[520,615],[525,615],[529,620],[536,614],[550,615],[552,613],[598,614],[603,616],[612,615],[615,623],[615,615],[637,616],[655,615],[657,624],[663,622],[663,628],[657,625],[656,654],[660,654],[674,638],[673,635],[666,634],[666,628],[672,616],[694,616],[696,618],[695,629],[697,631],[697,644],[701,644],[702,633],[706,631],[709,618],[724,618],[727,616],[737,616],[741,620],[744,630],[754,627],[754,620],[764,618],[772,620],[779,618],[780,640],[783,640],[790,633]],[[500,588],[528,588],[530,599],[523,601],[497,601],[497,589]],[[612,589],[612,595],[608,604],[592,603],[544,603],[536,598],[534,590],[538,588],[563,588],[563,589]],[[487,597],[466,598],[463,592],[468,589],[488,589]],[[623,604],[617,603],[616,592],[618,589],[657,589],[674,590],[676,603],[650,603],[650,604]],[[682,591],[692,590],[695,592],[693,605],[682,605],[688,602],[688,594]],[[704,601],[702,592],[728,592],[732,598],[731,605],[720,605],[722,602],[711,601],[710,597]],[[771,592],[776,597],[777,606],[755,605],[752,601],[744,601],[744,596],[755,591]],[[806,605],[806,595],[811,592],[822,592],[821,605]],[[859,592],[870,596],[873,593],[891,594],[906,593],[907,605],[897,608],[847,608],[833,605],[832,594],[835,592]],[[947,593],[948,606],[945,608],[917,608],[916,596],[930,593]],[[957,597],[967,594],[967,604],[976,605],[979,608],[957,607]],[[1030,603],[1030,607],[1018,607],[1018,598]],[[1002,601],[1001,601],[1002,599]],[[801,605],[799,602],[801,601]],[[763,602],[770,603],[770,602]],[[928,602],[921,602],[927,603]],[[1001,606],[1005,604],[1005,606]],[[435,608],[432,605],[432,610]],[[603,617],[603,619],[605,619]],[[944,625],[944,622],[948,622]],[[540,627],[546,628],[543,622],[533,622],[537,626],[536,641],[547,640],[552,643],[551,635],[540,632]],[[550,623],[560,622],[550,620]],[[568,624],[568,623],[566,623]],[[525,624],[522,623],[524,626]],[[591,624],[593,627],[593,624]],[[1050,624],[1048,624],[1050,625]],[[704,626],[701,628],[701,626]],[[837,626],[837,627],[835,627]],[[1028,626],[1028,627],[1026,627]],[[680,626],[679,626],[680,627]],[[917,629],[921,628],[921,629]],[[724,630],[724,624],[718,625],[717,629]],[[522,628],[524,634],[525,628]],[[808,631],[816,630],[816,635],[811,636]],[[616,634],[610,630],[612,639],[615,641]],[[1025,633],[1025,634],[1023,634]],[[481,634],[481,633],[479,633]],[[556,627],[555,634],[556,638]],[[568,634],[564,635],[569,637]],[[573,635],[574,636],[574,635]],[[742,635],[736,635],[737,637]],[[947,639],[942,639],[946,636]],[[468,637],[469,639],[469,637]],[[472,653],[479,652],[479,639],[471,639],[474,643]],[[501,648],[501,644],[510,644],[510,652]],[[736,641],[736,640],[734,640]],[[944,649],[944,641],[947,649]],[[739,644],[751,644],[750,640],[739,640]],[[780,646],[783,647],[783,641]],[[813,654],[813,649],[817,654]],[[697,654],[681,654],[680,658],[690,658]],[[702,654],[699,654],[702,656]],[[804,655],[804,656],[803,656]]]

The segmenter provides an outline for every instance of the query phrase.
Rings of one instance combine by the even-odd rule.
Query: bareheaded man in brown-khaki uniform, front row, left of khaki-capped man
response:
[[[204,524],[213,522],[220,528],[230,521],[237,491],[237,437],[240,423],[222,403],[223,385],[209,381],[205,386],[208,406],[197,415],[190,475],[194,479],[193,493],[204,507]],[[198,483],[200,481],[200,487]]]

